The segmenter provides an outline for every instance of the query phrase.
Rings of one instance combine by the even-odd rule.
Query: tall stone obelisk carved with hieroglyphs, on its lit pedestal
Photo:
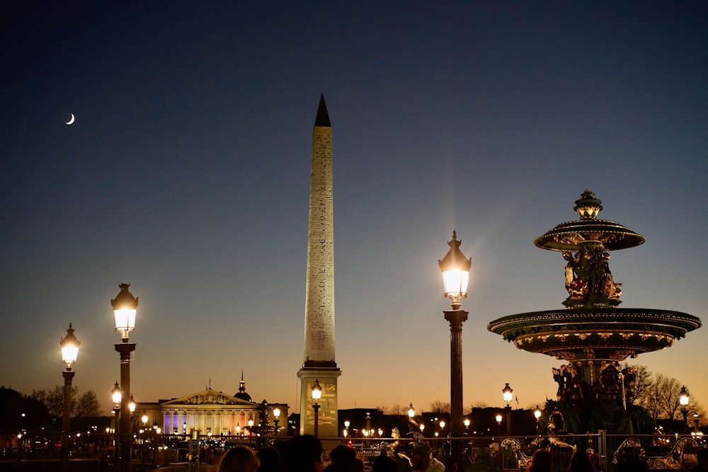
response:
[[[332,127],[324,95],[312,130],[307,282],[305,285],[304,363],[300,379],[300,434],[314,434],[312,386],[321,386],[317,404],[319,437],[337,437],[337,379],[334,359],[334,223],[332,202]]]

